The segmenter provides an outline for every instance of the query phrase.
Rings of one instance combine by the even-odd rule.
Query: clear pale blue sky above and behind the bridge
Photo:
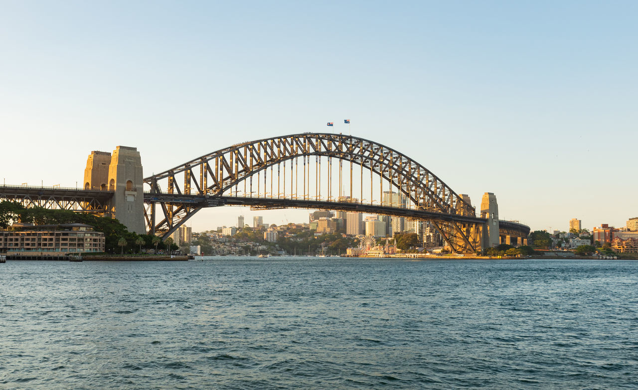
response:
[[[636,20],[636,1],[0,0],[0,173],[74,187],[91,150],[126,145],[150,175],[347,118],[473,203],[494,192],[502,219],[625,226]],[[239,214],[308,212],[190,224]]]

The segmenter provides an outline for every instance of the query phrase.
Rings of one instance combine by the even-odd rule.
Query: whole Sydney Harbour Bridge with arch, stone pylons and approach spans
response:
[[[337,210],[427,221],[457,253],[498,243],[523,245],[530,231],[498,220],[493,194],[486,192],[477,215],[468,196],[417,161],[345,134],[302,133],[238,143],[145,178],[137,149],[117,147],[113,155],[89,155],[84,179],[82,189],[5,185],[0,200],[111,215],[131,231],[163,238],[202,208],[216,206]]]

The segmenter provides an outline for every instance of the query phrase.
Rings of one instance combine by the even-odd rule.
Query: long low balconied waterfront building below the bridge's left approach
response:
[[[104,252],[101,231],[85,224],[33,225],[13,224],[0,231],[0,252],[6,254],[60,255]]]

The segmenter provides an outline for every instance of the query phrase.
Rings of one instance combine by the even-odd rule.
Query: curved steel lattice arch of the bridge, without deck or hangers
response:
[[[306,159],[313,155],[351,161],[370,170],[410,199],[418,210],[459,217],[475,216],[473,206],[417,161],[375,141],[345,134],[301,133],[238,143],[147,177],[144,182],[150,186],[151,193],[161,193],[159,181],[167,180],[168,194],[191,195],[194,190],[199,195],[221,197],[260,171],[288,160],[296,161],[298,157],[304,158],[305,166]],[[195,174],[197,168],[198,177]],[[177,184],[176,175],[183,175],[182,188]],[[157,224],[156,203],[161,205],[164,215]],[[207,205],[180,201],[151,202],[145,217],[152,233],[167,236],[204,206]],[[476,226],[470,228],[466,222],[459,226],[452,220],[440,226],[435,224],[435,227],[450,245],[453,241],[461,243],[453,247],[467,252],[475,251],[480,245],[476,239],[471,239],[476,236]]]

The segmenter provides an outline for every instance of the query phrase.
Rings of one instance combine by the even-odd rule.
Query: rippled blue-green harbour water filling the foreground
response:
[[[0,264],[7,389],[636,389],[637,261]]]

